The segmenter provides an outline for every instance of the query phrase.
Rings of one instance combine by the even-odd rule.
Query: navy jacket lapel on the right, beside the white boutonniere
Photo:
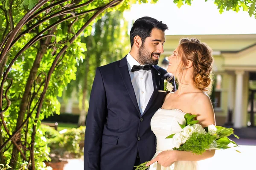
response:
[[[148,105],[145,108],[145,111],[144,111],[143,115],[149,110],[150,106],[154,103],[154,100],[157,97],[158,89],[159,89],[159,86],[160,86],[161,73],[157,70],[157,67],[155,65],[151,69],[151,73],[152,73],[154,91],[153,91],[153,94],[152,94],[151,98],[149,99]]]

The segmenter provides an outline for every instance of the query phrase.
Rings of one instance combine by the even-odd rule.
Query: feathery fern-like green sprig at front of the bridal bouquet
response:
[[[215,136],[210,135],[209,133],[197,133],[194,132],[186,140],[185,144],[181,144],[179,148],[174,148],[174,150],[183,150],[189,151],[196,154],[202,154],[205,150],[209,149],[210,144],[215,139]]]

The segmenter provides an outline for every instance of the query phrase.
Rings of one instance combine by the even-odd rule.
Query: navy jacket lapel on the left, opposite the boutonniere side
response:
[[[126,56],[120,60],[119,71],[120,71],[121,77],[122,77],[122,79],[125,83],[125,87],[128,91],[128,94],[131,97],[131,100],[132,100],[135,108],[140,113],[140,109],[139,109],[139,106],[138,106],[138,103],[137,103],[136,95],[134,93],[134,88],[133,88],[132,83],[131,83],[131,77],[130,77],[129,70],[128,70]]]

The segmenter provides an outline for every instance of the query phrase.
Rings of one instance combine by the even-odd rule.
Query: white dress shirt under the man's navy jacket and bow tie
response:
[[[137,62],[130,53],[127,55],[126,59],[131,77],[131,83],[134,88],[138,106],[140,108],[140,114],[142,115],[154,91],[152,73],[151,70],[139,70],[131,72],[132,67],[134,65],[140,65],[140,63]]]

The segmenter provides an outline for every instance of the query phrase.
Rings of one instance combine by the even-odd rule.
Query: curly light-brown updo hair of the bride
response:
[[[180,40],[181,60],[183,64],[192,61],[194,67],[194,83],[198,89],[211,93],[212,90],[212,49],[196,38]]]

